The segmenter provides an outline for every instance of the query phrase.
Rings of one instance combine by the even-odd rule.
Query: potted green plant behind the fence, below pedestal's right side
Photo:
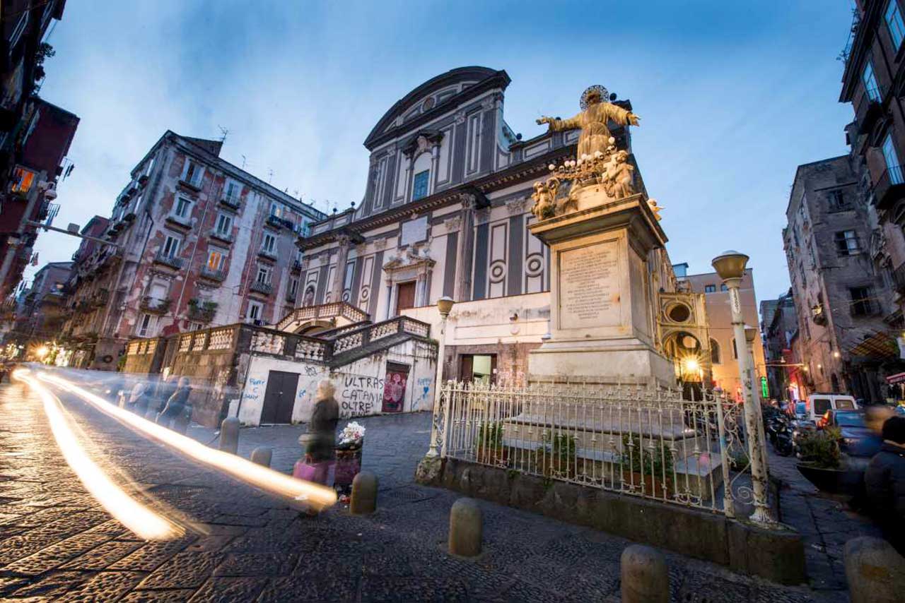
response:
[[[619,457],[621,477],[630,488],[643,488],[646,495],[672,498],[675,465],[672,450],[662,439],[643,441],[640,436],[624,434],[622,454]]]

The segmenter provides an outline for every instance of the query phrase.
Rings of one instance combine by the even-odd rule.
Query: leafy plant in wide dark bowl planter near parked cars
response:
[[[824,492],[834,494],[857,493],[864,477],[863,470],[843,465],[839,451],[842,432],[826,428],[806,433],[798,443],[798,472]]]

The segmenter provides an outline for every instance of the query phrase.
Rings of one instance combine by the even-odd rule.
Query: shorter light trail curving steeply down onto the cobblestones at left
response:
[[[24,369],[15,371],[13,378],[27,383],[33,391],[41,396],[44,414],[47,415],[47,420],[50,422],[53,438],[56,439],[62,457],[79,477],[85,489],[110,515],[146,540],[171,540],[185,533],[183,528],[139,503],[113,483],[81,446],[79,438],[76,438],[75,432],[71,428],[70,419],[66,417],[62,409],[60,400],[42,383],[29,376],[29,371]]]

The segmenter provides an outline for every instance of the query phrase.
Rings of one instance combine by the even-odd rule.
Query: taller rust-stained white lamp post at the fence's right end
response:
[[[738,297],[738,287],[741,285],[742,277],[745,276],[748,256],[738,251],[724,251],[713,259],[712,264],[719,278],[729,288],[729,307],[732,312],[732,331],[736,340],[738,376],[742,382],[742,395],[745,399],[745,430],[748,433],[748,458],[751,459],[751,482],[754,490],[754,513],[751,514],[751,521],[774,523],[767,507],[767,462],[760,429],[762,424],[760,404],[754,399],[753,391],[748,389],[748,382],[753,381],[753,378],[748,372],[748,337],[741,316],[741,298]]]

